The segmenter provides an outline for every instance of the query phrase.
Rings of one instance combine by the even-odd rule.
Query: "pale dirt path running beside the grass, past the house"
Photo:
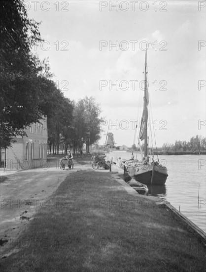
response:
[[[74,161],[73,170],[61,170],[58,161],[50,161],[48,169],[32,169],[4,174],[0,183],[0,254],[8,256],[12,244],[18,242],[21,232],[33,220],[38,209],[47,209],[52,195],[70,173],[88,169],[88,164]],[[7,241],[7,242],[6,242]]]

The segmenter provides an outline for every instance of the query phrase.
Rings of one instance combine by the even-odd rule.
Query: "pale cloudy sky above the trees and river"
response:
[[[140,120],[146,41],[157,145],[205,136],[206,126],[198,127],[205,124],[198,120],[206,119],[205,1],[119,1],[111,6],[115,3],[36,1],[35,6],[25,1],[29,17],[42,21],[46,43],[35,50],[41,59],[49,57],[53,80],[71,100],[94,96],[103,119],[116,123],[109,132],[117,145],[131,146],[130,120]],[[118,90],[109,84],[116,81]],[[106,133],[108,126],[102,125]],[[104,141],[102,134],[99,143]]]

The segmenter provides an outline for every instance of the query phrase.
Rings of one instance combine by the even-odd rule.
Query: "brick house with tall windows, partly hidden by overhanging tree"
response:
[[[17,136],[12,147],[0,150],[0,166],[6,169],[31,169],[47,163],[47,119],[25,129],[27,136]]]

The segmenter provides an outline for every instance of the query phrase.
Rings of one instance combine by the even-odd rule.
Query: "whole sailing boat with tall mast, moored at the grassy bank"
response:
[[[149,104],[149,94],[147,89],[147,51],[145,52],[145,65],[144,65],[144,97],[143,97],[143,113],[141,117],[141,125],[139,130],[138,145],[142,154],[142,160],[138,161],[134,159],[134,154],[132,152],[132,159],[123,162],[124,165],[124,175],[129,179],[133,178],[143,184],[149,185],[163,185],[165,184],[168,177],[168,170],[165,166],[161,165],[159,158],[154,160],[154,155],[152,154],[152,159],[148,156],[148,104]],[[137,126],[136,126],[137,128]],[[141,150],[141,145],[139,140],[144,140],[144,155]],[[153,148],[151,149],[153,152]]]

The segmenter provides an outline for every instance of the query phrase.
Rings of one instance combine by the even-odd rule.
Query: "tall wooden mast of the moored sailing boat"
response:
[[[147,157],[147,49],[145,51],[145,64],[144,64],[144,157]]]

